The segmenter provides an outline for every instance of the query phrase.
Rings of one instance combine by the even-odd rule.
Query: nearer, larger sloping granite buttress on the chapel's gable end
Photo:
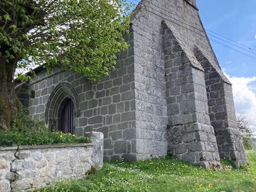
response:
[[[168,150],[181,160],[206,168],[220,167],[210,126],[204,71],[163,22]]]

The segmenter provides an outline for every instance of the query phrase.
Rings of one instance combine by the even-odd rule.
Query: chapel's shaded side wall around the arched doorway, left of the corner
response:
[[[122,155],[127,159],[127,154],[136,151],[132,31],[125,39],[129,50],[117,55],[116,70],[99,82],[88,82],[79,73],[62,67],[53,68],[51,73],[41,70],[28,82],[28,91],[35,91],[35,97],[28,98],[29,115],[45,120],[50,129],[57,130],[61,104],[71,99],[75,106],[75,134],[104,133],[105,160],[121,159]]]

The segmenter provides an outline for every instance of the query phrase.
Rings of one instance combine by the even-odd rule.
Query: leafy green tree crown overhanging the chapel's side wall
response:
[[[3,0],[0,7],[0,57],[11,68],[62,65],[95,81],[128,48],[125,0]]]

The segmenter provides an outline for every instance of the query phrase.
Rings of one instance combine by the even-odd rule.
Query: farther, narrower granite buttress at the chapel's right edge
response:
[[[221,78],[203,53],[195,48],[195,56],[205,71],[211,125],[214,127],[220,157],[233,161],[236,166],[246,163],[243,140],[237,128],[232,85]]]

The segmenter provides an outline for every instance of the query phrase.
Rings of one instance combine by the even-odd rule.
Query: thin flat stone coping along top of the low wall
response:
[[[95,144],[81,143],[81,144],[55,144],[55,145],[22,145],[22,146],[11,146],[11,147],[0,147],[0,151],[12,151],[12,150],[26,150],[26,149],[53,149],[53,148],[65,148],[65,147],[86,147],[93,146]]]

